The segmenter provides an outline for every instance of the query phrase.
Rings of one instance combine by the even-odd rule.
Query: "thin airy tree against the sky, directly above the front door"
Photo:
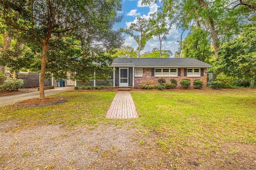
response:
[[[152,38],[150,30],[151,25],[149,21],[142,17],[137,17],[136,23],[131,23],[131,25],[128,28],[121,28],[122,32],[133,37],[136,43],[138,44],[137,58],[140,57],[140,51],[144,49],[147,41]]]

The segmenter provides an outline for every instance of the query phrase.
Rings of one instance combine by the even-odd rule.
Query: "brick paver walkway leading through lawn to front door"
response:
[[[113,119],[130,119],[138,117],[136,107],[129,91],[119,91],[116,93],[106,117]]]

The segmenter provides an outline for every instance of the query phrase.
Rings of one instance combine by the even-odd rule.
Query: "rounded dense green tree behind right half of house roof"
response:
[[[185,58],[195,58],[208,62],[211,57],[208,32],[194,28],[183,41],[182,53]]]

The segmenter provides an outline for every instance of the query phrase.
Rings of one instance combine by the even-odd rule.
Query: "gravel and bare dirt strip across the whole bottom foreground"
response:
[[[256,169],[255,145],[222,143],[206,156],[196,147],[162,150],[156,139],[131,128],[133,123],[68,130],[62,125],[20,127],[0,122],[0,169],[162,170]]]

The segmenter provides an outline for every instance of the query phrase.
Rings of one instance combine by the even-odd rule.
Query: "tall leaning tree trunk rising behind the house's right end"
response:
[[[207,4],[205,3],[204,0],[198,0],[200,2],[200,4],[202,5],[202,7],[206,10],[208,9]],[[218,35],[216,33],[215,30],[215,25],[214,25],[214,20],[212,18],[212,15],[210,13],[208,13],[208,20],[210,23],[210,30],[211,30],[211,35],[212,35],[212,41],[213,41],[213,47],[214,47],[214,52],[215,52],[215,56],[218,56],[218,50],[219,50],[219,45],[218,45]]]

